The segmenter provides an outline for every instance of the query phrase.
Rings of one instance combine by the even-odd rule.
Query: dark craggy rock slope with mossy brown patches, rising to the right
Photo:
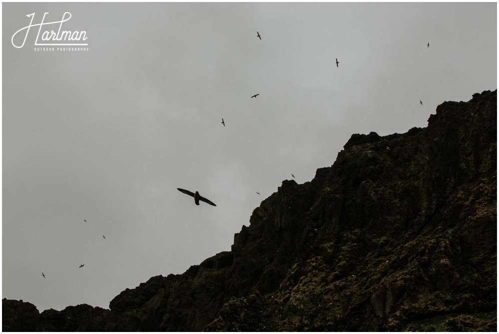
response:
[[[352,135],[222,252],[110,310],[2,301],[3,331],[497,331],[497,90]]]

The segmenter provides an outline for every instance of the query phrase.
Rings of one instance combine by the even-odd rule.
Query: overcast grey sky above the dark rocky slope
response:
[[[14,47],[33,12],[88,51]],[[353,133],[496,89],[497,3],[2,3],[2,73],[2,298],[108,308],[229,251]]]

